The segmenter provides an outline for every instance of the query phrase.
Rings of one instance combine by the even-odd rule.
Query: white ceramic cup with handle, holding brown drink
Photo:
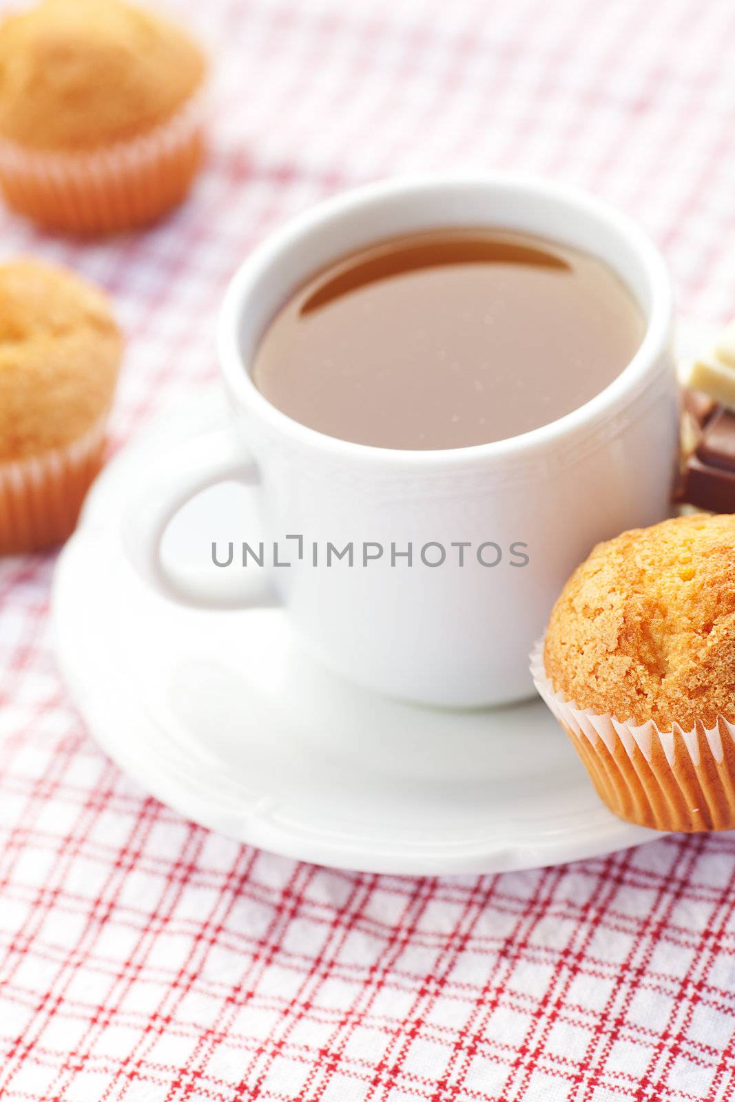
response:
[[[640,348],[585,406],[490,444],[399,451],[323,435],[256,389],[249,367],[259,338],[315,270],[391,235],[482,225],[594,253],[638,301],[647,322]],[[501,175],[398,179],[338,195],[271,235],[234,277],[218,331],[233,424],[151,472],[126,514],[129,554],[152,584],[197,605],[261,603],[268,576],[312,652],[379,692],[453,707],[529,696],[529,650],[574,566],[598,540],[669,514],[678,439],[671,322],[661,257],[634,224],[587,195]],[[169,520],[198,490],[233,478],[258,495],[263,566],[249,559],[242,568],[238,549],[227,570],[196,582],[174,577],[160,553]],[[301,560],[289,534],[303,537]],[[271,541],[291,565],[267,571]],[[353,565],[347,557],[327,565],[327,543],[352,544]],[[400,555],[409,543],[411,565]],[[383,553],[370,558],[377,544]],[[428,565],[422,549],[428,562],[442,549],[446,558]]]

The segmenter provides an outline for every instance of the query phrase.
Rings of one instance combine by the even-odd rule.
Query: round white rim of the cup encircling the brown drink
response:
[[[636,294],[626,280],[624,282],[628,285],[640,309],[647,314],[646,331],[640,346],[620,374],[583,406],[550,421],[548,424],[486,444],[452,449],[408,450],[358,444],[311,429],[272,406],[253,383],[249,365],[245,361],[241,349],[244,315],[261,280],[268,276],[271,269],[279,262],[283,262],[289,252],[300,246],[307,246],[309,240],[313,239],[315,235],[322,234],[334,222],[345,217],[365,217],[372,213],[376,207],[393,203],[397,198],[406,201],[412,197],[420,199],[429,196],[436,199],[444,195],[456,201],[461,192],[476,190],[495,191],[496,194],[504,193],[506,196],[512,192],[517,193],[519,199],[529,204],[532,204],[534,199],[543,199],[556,203],[565,207],[568,212],[574,209],[580,215],[592,218],[612,231],[629,250],[630,255],[635,256],[642,276],[648,304],[641,302],[640,294]],[[445,228],[447,224],[437,220],[436,228]],[[458,226],[461,222],[453,218],[451,224]],[[479,225],[477,219],[468,219],[466,224],[468,226]],[[514,226],[507,219],[498,223],[488,220],[487,225],[499,230],[517,229],[545,237],[548,240],[555,239],[561,244],[565,242],[563,235],[555,237],[553,230],[549,233],[527,230],[520,222]],[[410,229],[404,231],[411,233]],[[401,230],[398,233],[400,234]],[[377,241],[381,237],[390,236],[393,235],[376,234],[371,237],[368,234],[366,239]],[[592,256],[598,255],[595,249],[585,250],[584,246],[576,245],[575,247],[588,251]],[[349,248],[342,252],[337,249],[332,259],[336,260],[349,251]],[[605,258],[601,259],[615,270],[609,261]],[[313,271],[317,271],[320,267],[324,267],[324,264],[316,263]],[[617,274],[621,278],[620,272]],[[299,285],[299,282],[301,281],[296,281],[294,287]],[[279,305],[288,300],[292,290],[284,291]],[[381,465],[396,464],[397,461],[400,461],[403,466],[421,465],[425,467],[431,465],[432,468],[446,468],[468,461],[477,462],[511,456],[529,457],[534,451],[544,450],[549,445],[574,437],[580,431],[594,429],[601,422],[614,417],[628,404],[631,397],[642,392],[647,383],[652,382],[658,377],[657,361],[670,341],[672,315],[671,280],[659,250],[633,219],[588,193],[568,185],[548,183],[533,176],[511,173],[398,176],[350,188],[324,199],[289,219],[258,245],[237,269],[225,292],[217,325],[217,350],[221,377],[236,406],[245,408],[259,420],[266,422],[271,430],[288,435],[292,441],[311,449],[317,449],[322,453],[328,453],[332,457],[361,458]],[[264,331],[270,320],[270,317],[263,318],[260,333]]]

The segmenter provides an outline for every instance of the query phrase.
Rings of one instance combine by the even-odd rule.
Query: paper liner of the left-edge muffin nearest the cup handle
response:
[[[0,554],[42,551],[72,534],[102,465],[106,421],[65,447],[0,463]]]

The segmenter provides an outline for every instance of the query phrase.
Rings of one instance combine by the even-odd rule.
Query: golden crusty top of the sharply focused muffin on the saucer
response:
[[[580,707],[662,730],[735,721],[735,516],[598,543],[551,613],[544,666]]]

